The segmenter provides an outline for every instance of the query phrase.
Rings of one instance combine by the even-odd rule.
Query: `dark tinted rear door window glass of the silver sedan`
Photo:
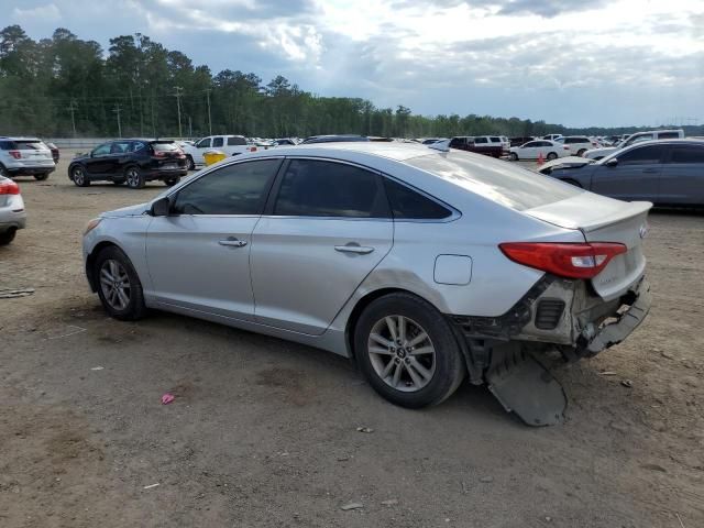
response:
[[[274,215],[388,218],[381,177],[363,168],[317,160],[292,160]]]

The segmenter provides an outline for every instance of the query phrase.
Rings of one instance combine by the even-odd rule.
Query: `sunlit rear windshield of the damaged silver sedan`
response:
[[[464,152],[419,156],[407,160],[406,163],[517,211],[584,193],[579,187],[507,162],[477,160]]]

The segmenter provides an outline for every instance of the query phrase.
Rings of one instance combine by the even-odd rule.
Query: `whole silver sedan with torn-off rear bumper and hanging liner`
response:
[[[593,356],[648,312],[650,207],[454,150],[297,146],[103,213],[84,256],[118,319],[154,308],[329,350],[405,407],[469,377],[546,425],[565,404],[548,354]]]

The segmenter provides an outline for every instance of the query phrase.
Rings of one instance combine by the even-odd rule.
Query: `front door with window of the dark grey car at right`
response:
[[[657,202],[664,145],[635,146],[610,158],[617,165],[594,165],[590,190],[619,200],[647,200]]]

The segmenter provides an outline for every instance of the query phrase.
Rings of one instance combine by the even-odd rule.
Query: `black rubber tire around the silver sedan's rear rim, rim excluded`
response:
[[[382,358],[382,360],[372,360],[372,353],[369,351],[372,330],[378,324],[383,324],[385,318],[398,318],[398,316],[406,318],[407,321],[416,324],[418,329],[425,332],[429,338],[425,343],[429,343],[430,346],[435,349],[435,355],[432,356],[433,364],[425,363],[424,365],[426,374],[432,371],[431,374],[424,376],[425,380],[429,381],[418,389],[409,387],[409,383],[414,383],[415,385],[415,380],[410,380],[413,376],[410,376],[409,366],[403,364],[403,362],[408,363],[409,361],[416,361],[417,364],[417,362],[420,361],[420,355],[411,353],[414,348],[395,349],[398,351],[404,350],[404,359],[398,355],[375,355],[376,358]],[[395,320],[398,321],[398,319]],[[419,333],[416,333],[416,336],[419,336]],[[409,341],[413,341],[413,339],[409,338]],[[384,346],[381,348],[383,349]],[[427,349],[427,345],[421,348]],[[370,385],[393,404],[407,408],[419,408],[440,404],[454,393],[466,374],[462,352],[444,317],[432,305],[405,293],[389,294],[380,297],[364,309],[354,329],[354,352],[360,369],[370,382]],[[418,350],[415,352],[418,353]],[[373,361],[376,361],[378,364],[378,361],[385,361],[383,360],[384,358],[388,358],[388,363],[385,364],[386,367],[388,367],[392,362],[395,362],[397,365],[402,363],[393,370],[400,369],[402,375],[398,378],[397,386],[404,386],[406,391],[400,391],[391,385],[391,383],[393,383],[391,381],[393,377],[391,372],[387,375],[389,381],[385,381],[382,378],[382,375],[377,373]],[[416,375],[418,375],[419,372],[419,370],[415,370]],[[406,381],[404,382],[403,378]]]

